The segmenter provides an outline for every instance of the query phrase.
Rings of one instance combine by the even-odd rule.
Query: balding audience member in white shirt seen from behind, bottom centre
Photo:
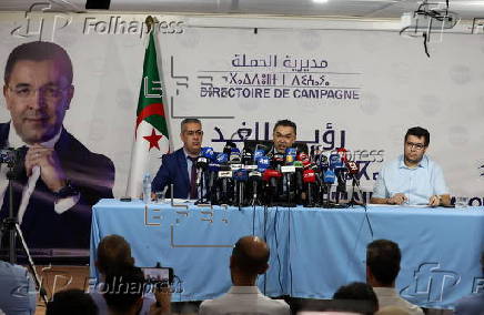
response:
[[[270,250],[258,236],[240,238],[230,257],[232,287],[224,295],[203,302],[199,315],[223,314],[291,314],[284,301],[271,299],[255,285],[259,275],[269,268]]]

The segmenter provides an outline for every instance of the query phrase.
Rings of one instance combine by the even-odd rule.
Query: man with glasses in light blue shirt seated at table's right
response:
[[[428,156],[427,130],[414,126],[407,130],[403,143],[404,154],[380,171],[371,203],[450,205],[451,196],[444,174]]]

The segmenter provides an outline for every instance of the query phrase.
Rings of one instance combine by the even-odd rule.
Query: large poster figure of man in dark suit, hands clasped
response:
[[[62,125],[72,77],[69,55],[50,42],[21,44],[7,61],[3,95],[11,121],[0,124],[0,148],[19,152],[13,211],[29,247],[88,248],[91,207],[113,196],[111,160],[90,152]],[[7,169],[1,164],[0,219],[9,216]]]

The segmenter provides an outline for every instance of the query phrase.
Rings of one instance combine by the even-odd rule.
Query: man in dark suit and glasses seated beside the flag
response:
[[[151,183],[153,192],[161,192],[173,184],[173,197],[198,199],[196,159],[202,146],[202,123],[198,119],[184,119],[181,122],[180,139],[183,148],[161,159],[161,166]],[[171,195],[170,192],[167,196]]]

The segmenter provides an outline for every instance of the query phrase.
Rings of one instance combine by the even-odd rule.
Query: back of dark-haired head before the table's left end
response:
[[[97,266],[101,274],[134,265],[131,246],[120,235],[108,235],[98,245]]]

